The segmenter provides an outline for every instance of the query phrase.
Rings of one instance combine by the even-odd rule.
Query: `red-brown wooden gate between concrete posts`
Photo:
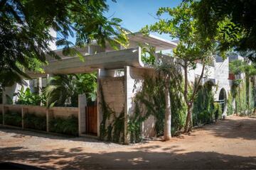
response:
[[[86,133],[97,135],[97,105],[85,107]]]

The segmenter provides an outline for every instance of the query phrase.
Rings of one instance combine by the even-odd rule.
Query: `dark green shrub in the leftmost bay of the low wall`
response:
[[[4,124],[21,127],[21,113],[15,111],[6,111],[4,113]]]

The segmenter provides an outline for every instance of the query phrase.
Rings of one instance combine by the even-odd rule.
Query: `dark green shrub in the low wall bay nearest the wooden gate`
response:
[[[74,115],[68,118],[52,118],[49,122],[50,132],[63,133],[67,135],[78,135],[78,118]]]

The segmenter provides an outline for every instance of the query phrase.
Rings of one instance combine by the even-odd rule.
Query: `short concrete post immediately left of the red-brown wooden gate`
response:
[[[85,107],[87,106],[86,96],[85,94],[80,94],[78,96],[78,133],[82,135],[82,133],[86,132],[86,122],[85,122]]]

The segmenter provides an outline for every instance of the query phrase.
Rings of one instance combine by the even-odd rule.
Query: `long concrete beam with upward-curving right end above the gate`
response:
[[[134,47],[112,52],[101,52],[94,55],[85,55],[85,62],[79,57],[70,57],[63,60],[49,62],[44,67],[46,74],[71,74],[94,72],[97,69],[120,69],[124,66],[143,67],[141,48]]]

